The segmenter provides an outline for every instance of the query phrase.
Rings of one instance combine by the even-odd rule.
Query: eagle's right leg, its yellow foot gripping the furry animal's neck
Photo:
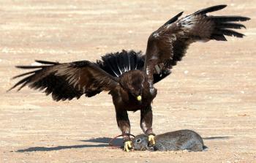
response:
[[[142,110],[140,110],[140,127],[143,130],[143,132],[148,135],[148,142],[151,145],[155,144],[154,141],[154,134],[152,129],[152,122],[153,122],[153,114],[151,106],[148,106]]]

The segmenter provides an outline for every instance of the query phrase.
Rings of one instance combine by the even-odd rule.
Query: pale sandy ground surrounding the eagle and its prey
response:
[[[225,1],[229,7],[214,13],[252,18],[244,23],[244,39],[195,43],[157,83],[154,131],[195,130],[209,148],[197,153],[109,148],[120,132],[106,93],[53,102],[29,88],[6,90],[22,72],[15,65],[145,51],[149,34],[173,15],[223,1],[0,2],[0,162],[256,162],[255,0]],[[132,134],[140,134],[140,113],[129,118]]]

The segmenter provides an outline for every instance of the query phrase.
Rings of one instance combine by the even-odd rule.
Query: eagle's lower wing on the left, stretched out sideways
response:
[[[118,79],[109,75],[97,64],[90,61],[75,61],[59,64],[50,61],[37,61],[42,66],[18,66],[20,69],[36,69],[31,72],[15,76],[24,77],[15,86],[24,86],[43,90],[52,94],[56,101],[79,98],[83,94],[94,96],[101,91],[110,91],[118,84]],[[10,90],[12,89],[10,88]]]

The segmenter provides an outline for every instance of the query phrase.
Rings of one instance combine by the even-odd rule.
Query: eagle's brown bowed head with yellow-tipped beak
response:
[[[121,86],[135,97],[139,102],[143,98],[144,89],[149,89],[148,80],[144,72],[140,70],[131,70],[121,75]]]

